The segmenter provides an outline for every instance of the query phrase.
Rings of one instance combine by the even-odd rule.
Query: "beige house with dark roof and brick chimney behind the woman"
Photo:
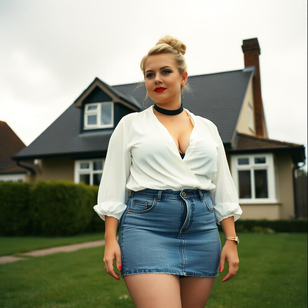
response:
[[[295,216],[294,178],[305,148],[268,138],[263,111],[257,38],[243,40],[245,67],[189,76],[193,95],[183,106],[217,125],[243,210],[242,219]],[[134,91],[135,90],[135,91]],[[145,87],[110,86],[99,78],[13,159],[35,159],[40,172],[25,180],[69,179],[99,185],[109,138],[126,114],[142,111]]]

